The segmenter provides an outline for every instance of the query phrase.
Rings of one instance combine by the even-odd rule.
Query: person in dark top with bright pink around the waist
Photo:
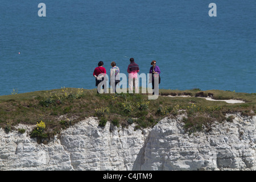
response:
[[[133,57],[130,59],[127,72],[129,73],[129,93],[133,93],[133,86],[135,87],[135,93],[138,93],[138,75],[139,65],[134,62]]]

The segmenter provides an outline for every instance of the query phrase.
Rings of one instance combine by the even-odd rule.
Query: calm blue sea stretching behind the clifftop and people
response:
[[[39,3],[46,5],[40,17]],[[209,16],[210,3],[217,16]],[[0,95],[93,89],[94,68],[152,60],[160,89],[256,92],[256,1],[1,0]]]

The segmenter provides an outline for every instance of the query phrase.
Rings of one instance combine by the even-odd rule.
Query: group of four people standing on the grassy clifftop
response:
[[[96,78],[96,86],[102,82],[107,81],[106,79],[106,69],[103,67],[104,63],[103,61],[98,62],[98,67],[94,69],[93,76]],[[152,74],[152,77],[150,77],[150,82],[152,83],[152,89],[154,90],[155,87],[155,78],[159,78],[159,84],[160,84],[160,68],[156,65],[156,61],[153,60],[151,62],[152,67],[150,67],[150,72]],[[120,70],[117,67],[117,64],[112,61],[111,63],[112,68],[110,69],[110,85],[113,88],[113,92],[116,92],[116,86],[120,82],[119,73]],[[133,90],[133,86],[135,87],[135,93],[138,93],[138,72],[139,72],[139,65],[135,63],[134,58],[130,58],[130,64],[128,65],[127,72],[129,73],[129,89]],[[102,85],[104,92],[104,84]],[[97,93],[98,89],[97,89]],[[154,94],[154,92],[153,92]]]

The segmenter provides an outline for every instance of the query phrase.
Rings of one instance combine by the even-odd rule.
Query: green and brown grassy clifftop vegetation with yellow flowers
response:
[[[163,117],[183,118],[185,130],[189,133],[210,130],[214,121],[232,122],[226,113],[240,112],[255,115],[256,94],[235,93],[222,90],[159,90],[157,100],[148,100],[147,94],[97,94],[96,89],[61,88],[48,91],[0,96],[0,127],[7,133],[18,123],[38,125],[31,137],[51,138],[75,123],[88,117],[98,117],[99,126],[106,122],[127,127],[135,123],[135,129],[152,127]],[[191,97],[167,97],[191,96]],[[211,96],[217,100],[243,100],[242,104],[228,104],[222,101],[207,101]],[[64,117],[60,117],[63,116]],[[42,122],[41,122],[42,121]],[[19,129],[24,133],[24,129]]]

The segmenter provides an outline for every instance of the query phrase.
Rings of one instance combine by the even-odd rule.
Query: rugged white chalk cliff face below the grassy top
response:
[[[255,170],[256,117],[215,123],[208,133],[187,134],[180,115],[134,131],[88,118],[48,144],[0,129],[0,170]]]

